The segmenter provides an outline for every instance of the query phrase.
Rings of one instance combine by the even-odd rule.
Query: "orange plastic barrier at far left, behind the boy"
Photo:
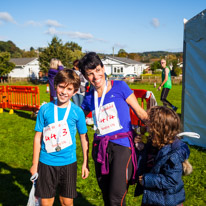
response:
[[[37,111],[40,108],[37,86],[0,86],[0,108]]]

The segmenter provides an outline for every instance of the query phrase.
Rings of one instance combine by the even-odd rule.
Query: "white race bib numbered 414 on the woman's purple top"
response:
[[[100,132],[99,135],[105,135],[122,129],[114,102],[100,107],[98,120],[96,119],[95,111],[92,111],[92,114],[95,127]]]

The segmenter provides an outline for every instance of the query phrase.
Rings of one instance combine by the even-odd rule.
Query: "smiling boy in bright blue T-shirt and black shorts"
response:
[[[79,76],[71,69],[59,71],[54,78],[57,100],[44,104],[38,113],[33,161],[30,172],[38,172],[35,196],[42,206],[52,206],[59,189],[62,206],[72,206],[77,196],[76,130],[83,152],[82,179],[89,175],[87,127],[82,109],[70,101],[80,86]]]

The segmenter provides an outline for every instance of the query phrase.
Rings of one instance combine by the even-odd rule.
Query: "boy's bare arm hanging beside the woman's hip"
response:
[[[80,134],[83,164],[82,164],[82,179],[86,179],[89,176],[88,154],[89,154],[89,139],[87,134]]]

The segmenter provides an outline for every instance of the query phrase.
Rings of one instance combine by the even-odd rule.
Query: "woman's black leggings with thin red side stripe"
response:
[[[93,149],[95,159],[98,144]],[[133,170],[131,149],[109,142],[107,152],[109,153],[108,175],[101,174],[101,164],[95,161],[96,177],[102,191],[104,205],[123,206]]]

